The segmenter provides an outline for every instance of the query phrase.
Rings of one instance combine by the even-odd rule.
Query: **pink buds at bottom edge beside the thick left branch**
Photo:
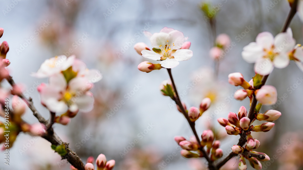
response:
[[[105,155],[100,154],[96,159],[96,170],[112,170],[115,166],[115,160],[106,160]],[[78,170],[74,166],[71,165],[71,170]],[[94,157],[90,156],[86,160],[85,170],[95,170],[94,166]]]

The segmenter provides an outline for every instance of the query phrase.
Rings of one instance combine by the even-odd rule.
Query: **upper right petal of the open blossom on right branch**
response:
[[[287,53],[295,47],[295,39],[288,33],[279,33],[275,37],[275,52]]]

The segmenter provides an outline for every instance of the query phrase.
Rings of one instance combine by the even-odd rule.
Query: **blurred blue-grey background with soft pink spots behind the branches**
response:
[[[237,143],[238,136],[226,136],[224,127],[220,127],[216,119],[227,117],[230,111],[238,112],[242,105],[249,109],[248,98],[244,101],[233,98],[238,88],[228,84],[228,74],[241,72],[248,81],[254,76],[253,64],[246,63],[241,57],[242,48],[262,31],[273,35],[280,32],[290,9],[288,2],[210,1],[219,9],[217,34],[228,34],[236,44],[220,62],[217,78],[213,73],[214,61],[209,56],[214,37],[200,9],[200,0],[121,2],[117,6],[115,0],[1,1],[0,27],[5,30],[1,40],[9,44],[7,59],[11,64],[8,69],[15,82],[26,86],[35,106],[48,118],[48,111],[40,104],[36,89],[37,84],[47,82],[47,79],[36,79],[30,74],[37,71],[45,59],[75,54],[88,68],[99,69],[103,79],[92,90],[94,109],[78,113],[68,126],[56,124],[55,131],[70,143],[70,148],[84,162],[88,156],[96,158],[103,153],[108,160],[115,159],[115,169],[194,170],[196,160],[182,158],[173,140],[177,135],[189,137],[192,132],[174,102],[159,91],[160,83],[169,78],[167,71],[138,71],[137,66],[144,58],[133,49],[137,42],[150,45],[141,31],[155,33],[163,27],[172,27],[189,38],[194,53],[190,60],[172,69],[178,91],[186,91],[182,101],[188,108],[198,107],[202,98],[212,97],[211,108],[198,120],[196,129],[200,135],[210,127],[220,132],[221,148],[227,156],[231,146]],[[243,36],[246,27],[251,30]],[[298,16],[293,19],[291,28],[297,43],[302,43],[302,23]],[[241,33],[242,38],[239,38]],[[28,40],[31,36],[34,40]],[[271,131],[253,134],[261,142],[259,152],[265,152],[271,158],[277,156],[270,163],[262,162],[263,169],[286,169],[285,165],[288,169],[302,169],[303,83],[297,81],[302,76],[303,72],[294,62],[285,69],[274,69],[269,76],[267,84],[277,88],[278,104],[264,106],[261,112],[274,108],[281,111],[282,116],[275,121]],[[201,77],[201,81],[195,83],[197,77]],[[7,83],[2,86],[9,88]],[[296,88],[292,90],[291,86]],[[286,98],[282,97],[284,94]],[[125,104],[121,104],[122,100]],[[222,104],[225,107],[221,107]],[[114,114],[108,116],[111,111]],[[210,118],[212,115],[215,117]],[[37,122],[30,110],[23,118],[30,123]],[[147,130],[150,129],[148,127],[152,129]],[[147,133],[141,136],[141,132]],[[139,142],[133,145],[135,140]],[[288,140],[295,142],[286,146]],[[127,152],[127,148],[131,148],[130,151]],[[176,156],[167,161],[171,155]],[[3,155],[1,157],[4,158]],[[201,165],[204,161],[198,159]],[[235,163],[232,159],[230,164]],[[10,166],[3,162],[0,168],[63,170],[69,169],[69,164],[61,161],[44,139],[21,134],[10,149]]]

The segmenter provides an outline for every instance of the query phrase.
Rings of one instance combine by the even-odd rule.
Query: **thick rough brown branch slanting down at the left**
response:
[[[11,76],[9,76],[6,80],[12,87],[16,85]],[[50,120],[48,121],[44,117],[42,117],[42,115],[37,111],[33,104],[32,98],[27,99],[23,94],[19,94],[18,96],[25,101],[25,103],[31,109],[33,115],[38,119],[38,121],[48,128],[45,135],[42,137],[48,140],[52,145],[65,145],[65,150],[67,151],[67,154],[65,156],[61,156],[61,158],[66,159],[71,165],[73,165],[78,170],[85,170],[85,165],[82,162],[81,158],[69,148],[68,143],[63,142],[60,137],[54,132],[52,125],[54,123],[55,113],[51,112]]]

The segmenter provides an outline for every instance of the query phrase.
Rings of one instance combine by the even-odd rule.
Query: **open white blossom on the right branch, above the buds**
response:
[[[248,63],[255,63],[255,72],[268,75],[276,68],[285,68],[289,64],[288,53],[295,47],[291,29],[279,33],[275,38],[269,32],[258,34],[256,42],[243,48],[242,57]]]

